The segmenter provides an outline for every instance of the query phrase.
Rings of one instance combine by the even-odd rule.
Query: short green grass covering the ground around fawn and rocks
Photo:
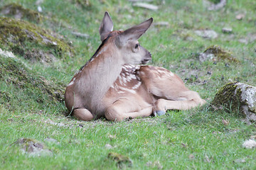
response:
[[[33,0],[1,1],[0,7],[10,2],[34,11],[37,8]],[[134,7],[124,0],[87,2],[89,4],[83,6],[75,0],[41,3],[41,15],[46,18],[35,24],[73,42],[75,55],[57,57],[55,62],[45,64],[17,56],[18,65],[26,72],[22,82],[36,80],[34,84],[39,88],[41,81],[48,82],[48,86],[53,84],[54,88],[68,84],[100,45],[98,28],[104,12],[109,11],[117,30],[150,17],[154,18],[154,23],[168,22],[168,26],[149,28],[140,38],[140,44],[151,52],[150,64],[175,72],[189,89],[198,91],[208,102],[229,81],[256,84],[256,41],[252,40],[256,36],[255,1],[228,1],[225,8],[218,11],[208,11],[205,1],[199,0],[152,1],[151,4],[159,6],[158,11]],[[245,18],[239,21],[235,16],[240,13],[245,14]],[[222,33],[221,29],[227,26],[233,28],[233,33]],[[194,34],[194,30],[202,29],[215,30],[218,38],[208,40]],[[72,35],[74,31],[87,33],[90,38],[77,38]],[[230,51],[238,62],[199,62],[198,53],[210,45]],[[9,59],[1,61],[11,63]],[[6,94],[0,94],[4,100],[0,101],[0,169],[256,168],[255,149],[242,147],[245,140],[256,135],[255,123],[247,125],[238,113],[213,111],[206,105],[191,111],[169,111],[161,117],[121,123],[104,119],[81,122],[65,118],[63,113],[67,110],[63,101],[53,100],[46,92],[33,87],[31,81],[22,84],[21,89],[16,84],[8,84],[9,79],[14,79],[13,75],[10,72],[1,75],[0,88]],[[36,98],[44,101],[38,102]],[[17,145],[12,145],[22,137],[45,143],[53,155],[30,157],[23,154]],[[46,142],[47,137],[58,142]],[[132,166],[108,157],[110,153],[128,157]]]

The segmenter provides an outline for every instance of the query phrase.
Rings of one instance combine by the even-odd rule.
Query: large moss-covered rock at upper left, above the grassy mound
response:
[[[31,61],[50,62],[73,49],[64,40],[33,23],[0,17],[0,47]]]

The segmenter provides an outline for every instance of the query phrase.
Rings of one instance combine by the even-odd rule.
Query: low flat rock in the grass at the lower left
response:
[[[52,156],[53,154],[50,149],[47,149],[43,143],[37,140],[21,138],[14,142],[14,144],[21,147],[21,151],[31,157]]]

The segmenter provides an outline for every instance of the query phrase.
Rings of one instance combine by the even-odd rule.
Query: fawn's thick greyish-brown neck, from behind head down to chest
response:
[[[81,69],[78,77],[80,87],[77,89],[80,89],[79,93],[83,94],[85,107],[95,114],[104,111],[102,98],[117,80],[124,64],[121,54],[111,46],[107,44],[99,48]]]

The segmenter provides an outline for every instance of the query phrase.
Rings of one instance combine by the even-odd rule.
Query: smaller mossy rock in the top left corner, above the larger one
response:
[[[24,8],[20,4],[11,3],[0,8],[0,13],[4,16],[11,16],[16,19],[26,19],[39,23],[43,16],[40,13],[28,8]]]

